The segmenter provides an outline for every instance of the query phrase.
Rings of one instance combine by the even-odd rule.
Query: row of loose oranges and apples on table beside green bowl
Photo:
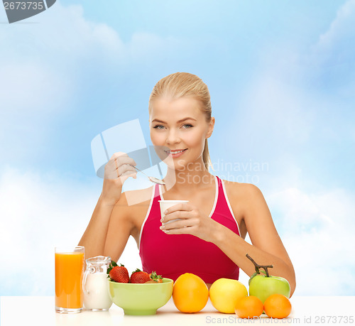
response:
[[[273,318],[288,317],[292,309],[288,281],[271,276],[268,268],[272,268],[272,265],[258,265],[249,254],[246,256],[256,269],[249,280],[249,295],[244,284],[239,281],[219,278],[208,290],[202,278],[185,273],[177,278],[173,286],[176,308],[182,313],[197,313],[204,308],[209,298],[219,312],[236,313],[241,318],[259,317],[262,313]]]

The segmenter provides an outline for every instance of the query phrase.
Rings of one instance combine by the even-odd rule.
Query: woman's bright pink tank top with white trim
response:
[[[209,217],[240,235],[224,182],[217,176],[214,180],[216,196]],[[191,234],[165,234],[161,231],[158,200],[163,200],[163,195],[160,185],[154,185],[151,204],[139,236],[139,256],[143,271],[156,271],[158,275],[174,281],[183,273],[194,273],[205,283],[213,283],[218,278],[238,280],[239,267],[212,242]]]

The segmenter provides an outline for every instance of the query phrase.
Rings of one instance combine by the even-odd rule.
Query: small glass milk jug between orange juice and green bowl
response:
[[[84,308],[87,310],[109,310],[112,305],[109,297],[107,269],[111,257],[96,256],[86,260],[87,268],[82,278]]]

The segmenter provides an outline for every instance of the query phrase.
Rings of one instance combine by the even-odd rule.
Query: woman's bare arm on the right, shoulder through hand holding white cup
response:
[[[224,225],[201,214],[200,210],[190,203],[169,207],[164,222],[172,219],[180,221],[170,222],[160,229],[166,234],[192,234],[216,244],[249,276],[254,273],[255,268],[246,254],[259,265],[272,264],[273,268],[269,270],[271,275],[286,278],[290,283],[292,295],[296,286],[293,264],[278,236],[263,194],[255,185],[232,183],[228,188],[231,190],[230,202],[238,203],[236,211],[238,216],[244,218],[252,245]]]

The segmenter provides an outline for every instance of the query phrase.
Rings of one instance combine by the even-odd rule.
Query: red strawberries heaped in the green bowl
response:
[[[145,271],[141,271],[139,268],[136,271],[131,273],[131,277],[129,277],[129,271],[124,265],[121,263],[117,265],[116,262],[111,261],[109,268],[107,269],[108,278],[110,281],[117,283],[162,283],[163,277],[161,275],[157,275],[155,271],[151,273],[146,273]]]

